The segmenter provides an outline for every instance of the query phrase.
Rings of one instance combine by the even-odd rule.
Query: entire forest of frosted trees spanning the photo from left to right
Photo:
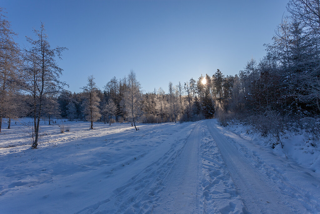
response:
[[[40,121],[56,118],[139,123],[187,122],[217,118],[249,125],[281,143],[286,130],[303,129],[320,137],[320,6],[319,1],[290,0],[289,15],[279,17],[266,56],[249,59],[238,74],[219,69],[198,79],[168,82],[166,89],[143,92],[135,71],[113,77],[99,89],[91,75],[82,92],[64,88],[58,60],[66,47],[51,47],[44,25],[26,38],[30,48],[15,42],[16,33],[0,8],[0,132],[4,118],[33,118],[33,148]],[[231,59],[232,60],[232,59]],[[232,62],[230,62],[232,63]],[[139,72],[139,71],[137,71]],[[190,78],[190,79],[189,79]],[[165,91],[167,93],[165,93]]]

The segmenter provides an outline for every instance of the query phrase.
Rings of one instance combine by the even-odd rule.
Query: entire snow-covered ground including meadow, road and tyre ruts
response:
[[[64,124],[37,150],[19,123],[1,130],[1,213],[320,212],[319,174],[214,119]]]

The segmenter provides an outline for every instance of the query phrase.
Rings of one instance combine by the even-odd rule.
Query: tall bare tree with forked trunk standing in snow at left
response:
[[[34,29],[36,39],[27,37],[27,41],[32,45],[29,50],[25,50],[26,67],[22,73],[23,81],[20,82],[24,91],[32,96],[34,118],[34,140],[32,149],[38,145],[39,125],[44,99],[58,94],[66,83],[60,81],[62,69],[56,63],[56,57],[61,59],[61,53],[66,47],[51,48],[48,36],[45,34],[44,25],[41,23],[40,30]]]

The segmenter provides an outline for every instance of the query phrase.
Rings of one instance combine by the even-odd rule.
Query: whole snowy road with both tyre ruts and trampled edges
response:
[[[315,213],[320,210],[318,178],[307,173],[299,177],[295,174],[299,167],[294,169],[286,160],[269,157],[268,150],[237,135],[220,133],[221,129],[216,120],[196,123],[188,138],[172,144],[170,150],[118,187],[110,198],[77,213]],[[294,182],[295,179],[302,185]]]

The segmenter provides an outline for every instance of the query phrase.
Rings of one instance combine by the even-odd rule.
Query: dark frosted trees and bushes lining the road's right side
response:
[[[320,2],[290,0],[267,54],[251,59],[233,78],[231,97],[216,116],[271,134],[282,145],[285,130],[320,137]],[[273,145],[274,146],[274,145]]]

